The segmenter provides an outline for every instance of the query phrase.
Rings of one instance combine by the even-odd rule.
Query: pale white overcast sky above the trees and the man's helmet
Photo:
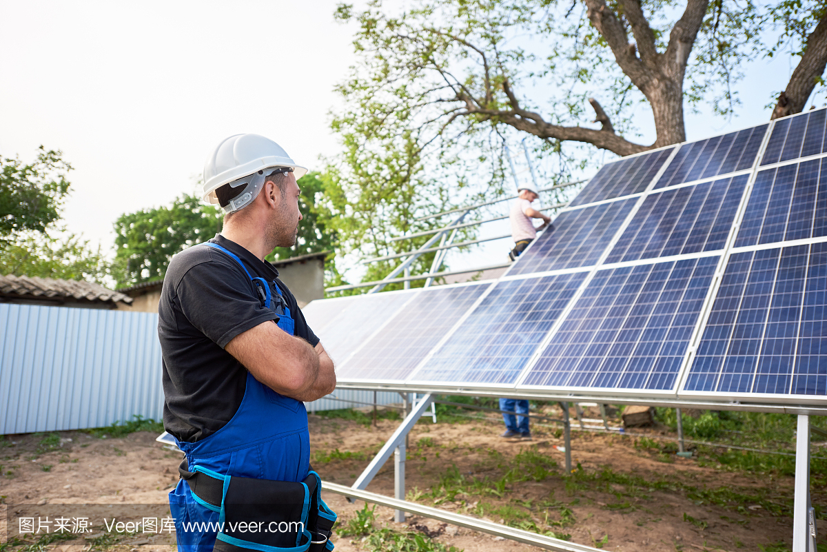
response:
[[[66,224],[106,250],[122,213],[193,193],[232,134],[268,136],[319,168],[338,150],[332,88],[355,61],[355,27],[333,21],[335,5],[0,0],[0,155],[63,150],[75,168]],[[791,69],[758,62],[739,116],[689,116],[688,138],[767,121],[768,93]]]

